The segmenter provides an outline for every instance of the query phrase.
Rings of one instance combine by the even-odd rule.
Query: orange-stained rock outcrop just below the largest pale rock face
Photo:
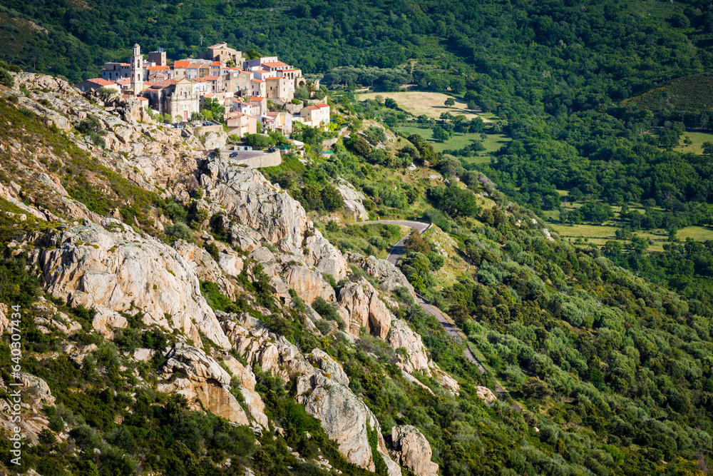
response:
[[[188,345],[177,345],[167,355],[163,366],[163,379],[173,374],[185,375],[169,383],[160,383],[158,391],[178,393],[188,399],[190,407],[207,410],[240,425],[249,425],[250,420],[240,403],[230,393],[230,375],[225,369],[205,353]]]

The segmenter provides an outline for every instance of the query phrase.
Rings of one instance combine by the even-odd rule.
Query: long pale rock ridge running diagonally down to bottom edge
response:
[[[374,471],[368,432],[376,430],[377,450],[389,468],[389,476],[400,476],[401,469],[386,450],[379,422],[359,397],[349,390],[349,379],[332,357],[314,349],[308,358],[282,335],[270,333],[260,321],[250,315],[222,315],[225,334],[234,348],[245,355],[248,363],[257,363],[265,372],[272,372],[289,382],[297,379],[297,402],[303,403],[309,415],[317,417],[339,451],[366,470]],[[315,367],[316,366],[316,367]]]

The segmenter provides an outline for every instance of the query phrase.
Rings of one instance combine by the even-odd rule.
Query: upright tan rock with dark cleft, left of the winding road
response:
[[[349,313],[347,330],[352,335],[359,336],[362,325],[369,329],[369,333],[381,339],[389,335],[391,313],[366,279],[359,278],[342,286],[339,290],[339,305]]]

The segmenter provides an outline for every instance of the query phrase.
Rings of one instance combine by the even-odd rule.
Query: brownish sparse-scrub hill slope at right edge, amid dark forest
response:
[[[622,102],[653,112],[713,111],[713,73],[677,78]]]

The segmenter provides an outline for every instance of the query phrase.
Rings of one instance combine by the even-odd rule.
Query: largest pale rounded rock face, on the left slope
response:
[[[96,308],[93,325],[106,335],[110,327],[126,325],[117,311],[141,311],[146,325],[177,328],[196,343],[200,330],[222,348],[230,347],[200,294],[195,271],[173,248],[112,218],[104,222],[108,229],[87,223],[34,239],[29,257],[52,295]]]

